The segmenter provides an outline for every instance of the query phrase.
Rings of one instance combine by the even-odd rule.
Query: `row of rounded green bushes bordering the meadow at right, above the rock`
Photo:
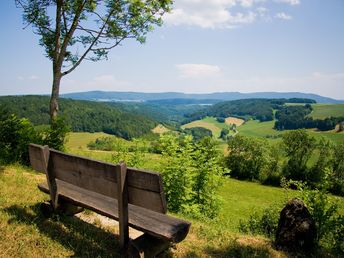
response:
[[[279,186],[282,178],[344,196],[344,143],[316,140],[299,129],[283,134],[282,144],[237,135],[228,140],[231,177]]]

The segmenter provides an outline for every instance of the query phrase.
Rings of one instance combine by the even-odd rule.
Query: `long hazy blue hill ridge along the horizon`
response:
[[[145,102],[153,100],[171,100],[171,99],[189,99],[189,100],[205,100],[209,104],[210,100],[215,102],[238,100],[238,99],[278,99],[278,98],[307,98],[314,99],[317,103],[344,103],[344,100],[336,100],[332,98],[323,97],[317,94],[301,93],[301,92],[255,92],[255,93],[240,93],[240,92],[216,92],[209,94],[187,94],[180,92],[163,92],[163,93],[143,93],[143,92],[115,92],[115,91],[88,91],[62,94],[63,98],[71,98],[78,100],[92,100],[92,101],[133,101]],[[184,102],[185,104],[185,102]],[[191,104],[191,103],[190,103]]]

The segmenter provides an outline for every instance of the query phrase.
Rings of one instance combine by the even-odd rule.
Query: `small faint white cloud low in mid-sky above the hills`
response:
[[[176,65],[176,68],[179,71],[180,78],[200,79],[218,77],[221,75],[221,68],[217,65],[178,64]]]

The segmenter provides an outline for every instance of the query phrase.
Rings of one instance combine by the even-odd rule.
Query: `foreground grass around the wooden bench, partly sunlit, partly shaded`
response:
[[[18,165],[0,171],[0,257],[119,257],[117,227],[75,216],[46,219],[39,204],[48,196],[36,187],[45,176]],[[239,220],[254,210],[283,201],[282,189],[227,178],[221,196],[222,211],[215,220],[177,215],[191,220],[190,233],[162,257],[290,257],[275,250],[270,240],[237,230]],[[343,209],[343,198],[340,202]]]

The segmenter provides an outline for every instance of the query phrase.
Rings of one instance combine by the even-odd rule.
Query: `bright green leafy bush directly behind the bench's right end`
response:
[[[169,210],[194,217],[213,218],[219,210],[218,188],[223,166],[215,142],[206,137],[198,143],[191,136],[164,134],[160,138]]]

